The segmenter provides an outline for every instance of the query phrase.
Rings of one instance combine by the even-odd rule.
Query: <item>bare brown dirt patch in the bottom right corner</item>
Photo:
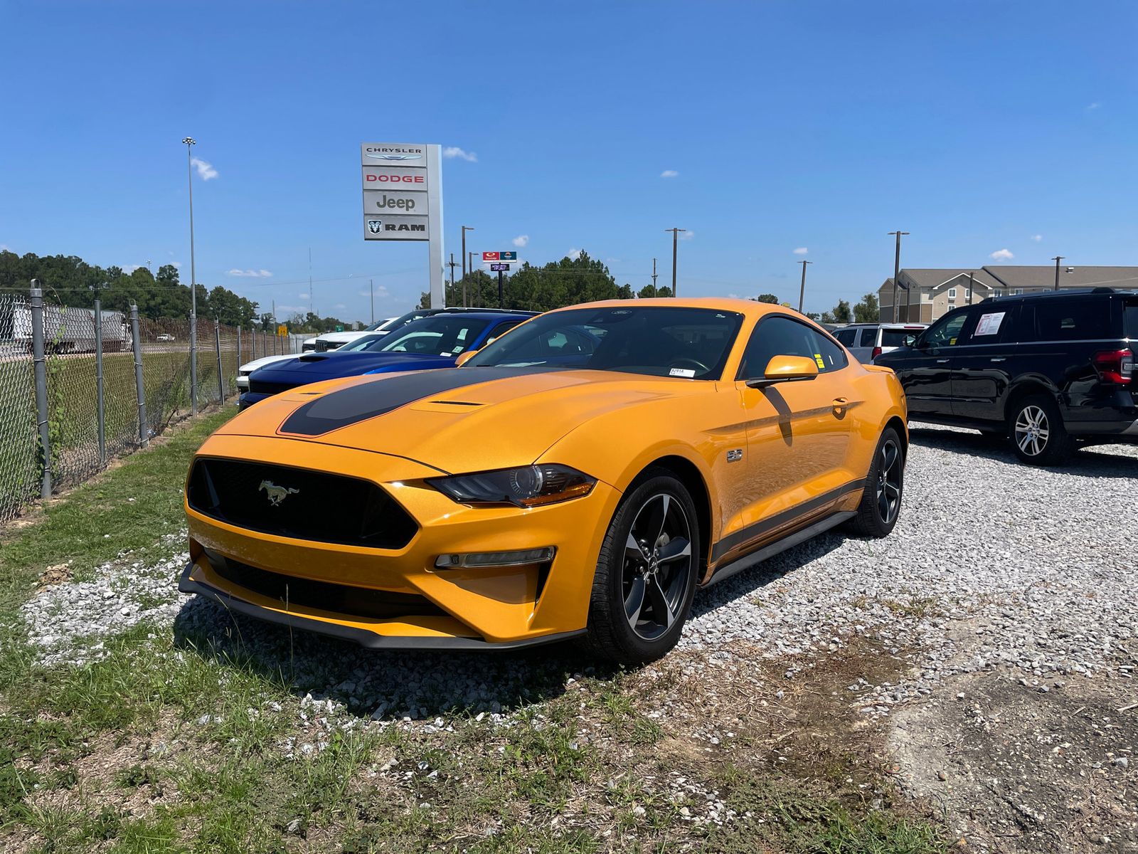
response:
[[[1138,852],[1136,699],[1118,675],[960,674],[894,715],[890,747],[970,851]]]

